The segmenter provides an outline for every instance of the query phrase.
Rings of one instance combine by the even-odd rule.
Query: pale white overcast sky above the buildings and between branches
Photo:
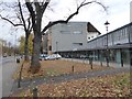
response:
[[[102,34],[106,33],[105,22],[107,20],[110,23],[109,31],[116,30],[120,26],[130,23],[130,1],[132,0],[100,0],[100,1],[105,6],[109,7],[108,14],[103,11],[103,9],[100,6],[90,4],[85,8],[81,8],[80,13],[74,16],[74,19],[72,19],[70,21],[90,22]],[[51,0],[51,7],[54,9],[54,12],[50,11],[45,12],[44,16],[46,15],[47,18],[43,19],[44,23],[47,23],[47,21],[64,19],[65,16],[68,16],[68,14],[76,10],[77,4],[75,3],[76,0]],[[0,19],[0,38],[14,43],[15,37],[18,38],[21,34],[24,35],[22,31],[19,31],[18,33],[11,35],[12,31],[10,29],[11,28],[9,23]]]

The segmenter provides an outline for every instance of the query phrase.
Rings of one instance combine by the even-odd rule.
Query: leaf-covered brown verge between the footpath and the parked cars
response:
[[[78,74],[78,73],[86,73],[92,70],[105,70],[105,69],[113,69],[113,67],[106,67],[106,66],[98,66],[94,65],[94,68],[90,68],[90,65],[77,62],[69,62],[69,61],[41,61],[41,69],[37,74],[31,74],[30,63],[24,63],[22,69],[22,79],[30,79],[35,77],[50,77],[50,76],[59,76],[64,74]],[[74,72],[73,72],[74,66]],[[20,72],[20,68],[19,68]],[[18,78],[19,74],[16,73],[14,78]]]

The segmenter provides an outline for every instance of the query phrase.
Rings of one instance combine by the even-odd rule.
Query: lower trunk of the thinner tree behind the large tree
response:
[[[29,34],[26,34],[26,36],[25,36],[24,61],[29,62]]]

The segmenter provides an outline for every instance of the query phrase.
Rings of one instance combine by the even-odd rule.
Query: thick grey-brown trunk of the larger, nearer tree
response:
[[[34,32],[34,40],[33,40],[33,53],[32,53],[32,62],[31,62],[31,73],[35,74],[41,68],[40,63],[40,54],[41,54],[41,41],[42,41],[42,33],[41,33],[41,22],[43,13],[38,4],[36,6],[36,16],[32,19],[33,22],[33,32]]]

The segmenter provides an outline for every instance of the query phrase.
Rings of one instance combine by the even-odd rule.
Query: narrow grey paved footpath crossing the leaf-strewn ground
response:
[[[26,90],[29,88],[32,88],[33,86],[35,87],[41,84],[55,84],[55,82],[68,81],[72,79],[99,77],[99,76],[114,75],[119,73],[129,73],[129,72],[130,68],[116,68],[116,69],[99,70],[99,72],[61,75],[55,77],[25,79],[21,81],[21,88],[18,88],[18,81],[15,80],[12,87],[12,94],[19,94],[22,90]]]

